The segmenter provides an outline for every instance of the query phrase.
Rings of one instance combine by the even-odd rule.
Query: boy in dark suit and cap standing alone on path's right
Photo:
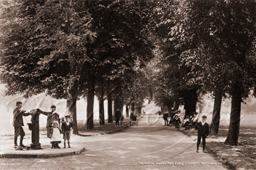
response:
[[[197,148],[196,148],[196,153],[198,153],[198,147],[200,145],[201,142],[201,138],[203,139],[203,152],[206,153],[205,151],[205,138],[207,135],[209,135],[209,125],[208,123],[206,123],[207,120],[207,116],[203,115],[201,116],[202,118],[202,122],[198,123],[198,125],[196,126],[196,130],[198,130],[198,144],[197,144]]]

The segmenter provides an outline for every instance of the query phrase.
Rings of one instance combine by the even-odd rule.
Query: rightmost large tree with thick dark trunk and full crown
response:
[[[215,91],[216,94],[223,91],[232,97],[225,143],[237,145],[241,101],[248,97],[255,84],[255,75],[248,72],[255,67],[255,61],[250,57],[255,55],[252,54],[255,49],[255,3],[180,1],[176,9],[177,22],[169,29],[169,35],[174,36],[171,42],[176,47],[183,43],[192,44],[181,55],[182,62],[191,68],[191,84],[201,81],[203,85],[206,82],[203,90]],[[178,43],[175,40],[179,40]],[[211,89],[205,88],[207,82],[212,83]]]

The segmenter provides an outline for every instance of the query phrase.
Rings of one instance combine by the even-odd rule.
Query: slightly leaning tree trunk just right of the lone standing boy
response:
[[[222,89],[216,89],[214,99],[214,109],[212,111],[212,123],[210,123],[210,134],[218,135],[219,133],[219,120],[221,119],[221,100]]]

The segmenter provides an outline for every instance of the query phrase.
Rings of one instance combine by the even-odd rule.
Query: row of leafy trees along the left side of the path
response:
[[[67,99],[78,134],[76,100],[87,98],[87,129],[94,128],[94,95],[99,118],[139,103],[141,68],[152,57],[146,29],[146,1],[5,1],[1,13],[1,82],[5,95],[46,92]],[[141,89],[141,88],[140,88]]]

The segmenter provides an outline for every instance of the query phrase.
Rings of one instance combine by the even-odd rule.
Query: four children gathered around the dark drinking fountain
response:
[[[22,116],[29,116],[30,112],[22,111],[22,102],[16,102],[16,108],[13,110],[13,127],[14,127],[14,148],[26,148],[22,143],[25,132],[22,128],[24,126]],[[60,115],[56,113],[56,106],[51,105],[51,112],[44,112],[40,109],[37,109],[39,113],[42,113],[47,116],[47,137],[51,139],[51,148],[60,148],[58,146],[61,143],[62,138],[64,139],[64,148],[66,148],[66,141],[68,147],[70,146],[71,139],[71,129],[73,128],[73,123],[70,120],[70,115],[65,115],[64,118],[60,119]],[[63,134],[63,137],[61,136]],[[17,139],[20,137],[20,144],[17,145]]]

